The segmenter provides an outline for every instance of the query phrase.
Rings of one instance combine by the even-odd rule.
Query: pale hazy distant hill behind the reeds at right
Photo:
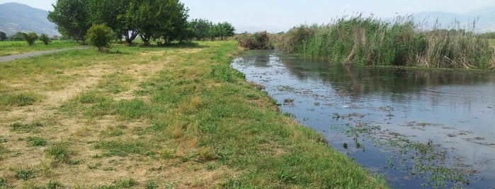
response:
[[[467,13],[421,12],[412,14],[416,23],[431,29],[437,23],[443,29],[472,30],[475,32],[495,32],[495,6],[480,8]]]

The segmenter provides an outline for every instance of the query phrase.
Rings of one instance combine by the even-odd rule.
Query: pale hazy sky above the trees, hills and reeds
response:
[[[52,11],[56,0],[0,0]],[[237,32],[284,32],[301,24],[326,24],[342,16],[394,18],[424,11],[465,13],[495,0],[181,0],[189,18],[232,23]]]

